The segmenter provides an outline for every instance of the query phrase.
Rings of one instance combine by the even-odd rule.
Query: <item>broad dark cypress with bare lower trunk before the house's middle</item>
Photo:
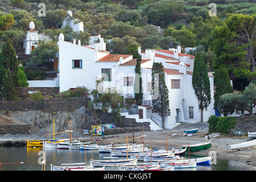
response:
[[[156,77],[158,74],[158,78]],[[164,81],[164,69],[162,63],[154,63],[152,66],[152,89],[154,90],[152,95],[158,95],[157,98],[152,99],[152,105],[154,111],[160,115],[162,118],[163,129],[164,120],[168,115],[171,115],[170,105],[169,105],[169,90],[166,86],[166,81]],[[158,93],[155,93],[158,90]]]

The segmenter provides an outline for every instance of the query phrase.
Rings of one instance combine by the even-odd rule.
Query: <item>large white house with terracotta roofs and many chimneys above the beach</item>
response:
[[[59,36],[59,80],[60,92],[77,86],[96,89],[95,81],[103,78],[104,88],[115,87],[122,91],[123,96],[134,96],[136,60],[131,55],[112,55],[106,51],[106,45],[101,38],[100,43],[81,46],[76,40],[66,42],[63,34]],[[164,65],[166,85],[169,90],[171,116],[167,117],[164,126],[173,128],[183,122],[199,122],[200,109],[192,88],[193,61],[195,56],[181,53],[180,46],[169,50],[146,50],[138,52],[142,55],[141,75],[143,82],[143,116],[127,115],[136,118],[137,122],[154,120],[160,126],[158,113],[152,110],[151,69],[154,62]],[[213,110],[213,76],[210,76],[212,102],[204,110],[204,121],[207,121]],[[152,119],[152,120],[151,120]]]

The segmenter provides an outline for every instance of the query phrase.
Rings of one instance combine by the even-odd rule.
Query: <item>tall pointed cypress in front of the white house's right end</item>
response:
[[[192,86],[195,90],[197,99],[199,100],[199,108],[201,110],[201,122],[203,122],[203,111],[210,104],[210,80],[208,77],[207,66],[203,56],[199,52],[196,53],[194,60],[194,68],[192,75]]]

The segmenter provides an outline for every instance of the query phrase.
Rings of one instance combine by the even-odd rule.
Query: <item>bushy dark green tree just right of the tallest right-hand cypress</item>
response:
[[[226,68],[221,68],[214,73],[214,85],[216,90],[214,92],[214,108],[218,108],[220,114],[220,96],[225,93],[233,93],[233,87],[230,84],[229,72]]]

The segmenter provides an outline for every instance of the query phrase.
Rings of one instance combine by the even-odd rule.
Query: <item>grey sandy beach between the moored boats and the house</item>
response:
[[[200,123],[183,123],[174,129],[164,129],[164,130],[158,130],[158,131],[144,131],[144,146],[151,146],[153,149],[166,149],[167,148],[167,135],[168,135],[168,150],[171,150],[171,148],[175,149],[181,149],[181,146],[189,144],[196,144],[196,143],[203,143],[204,142],[204,134],[208,133],[208,126],[209,124],[206,122],[200,122]],[[192,134],[191,137],[185,136],[183,137],[183,131],[185,129],[195,129],[198,128],[199,131],[195,134]],[[173,134],[176,134],[175,137],[173,137]],[[142,135],[141,132],[134,132],[134,137],[139,137]],[[23,136],[24,137],[24,136]],[[133,138],[133,134],[129,133],[127,134],[127,138]],[[0,142],[7,141],[7,140],[31,140],[35,139],[32,138],[32,136],[26,136],[26,138],[20,138],[20,137],[0,137]],[[85,140],[86,142],[91,140],[91,137],[81,137],[82,140]],[[99,137],[98,144],[109,144],[108,142],[113,142],[116,140],[122,140],[126,139],[126,134],[115,134],[115,135],[108,135],[108,133],[105,134],[104,138]],[[236,162],[240,162],[240,164],[243,165],[250,165],[251,169],[256,170],[255,164],[256,164],[256,148],[254,149],[246,149],[246,150],[239,150],[239,151],[231,151],[228,149],[228,144],[236,144],[236,143],[242,143],[247,141],[247,137],[226,137],[224,135],[220,135],[218,137],[212,138],[212,147],[210,147],[208,150],[204,151],[197,151],[193,152],[192,154],[196,155],[209,155],[210,151],[215,151],[217,158],[220,159],[227,159],[227,160],[234,160]],[[140,143],[141,139],[134,139],[135,143]],[[129,143],[133,143],[133,139],[128,140]],[[126,140],[119,141],[116,143],[126,143]]]

